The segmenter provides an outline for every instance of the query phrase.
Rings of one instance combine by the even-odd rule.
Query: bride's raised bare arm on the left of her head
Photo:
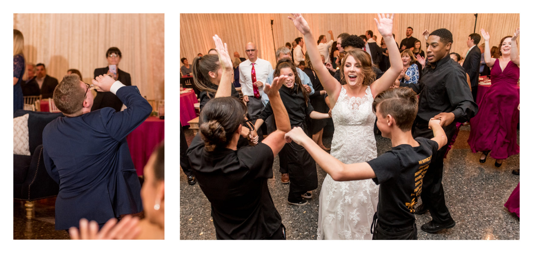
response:
[[[307,52],[311,63],[313,64],[314,71],[316,72],[320,83],[324,86],[324,89],[330,97],[329,102],[331,108],[335,106],[338,95],[341,93],[341,83],[337,81],[332,75],[329,74],[328,69],[322,64],[322,58],[320,52],[318,51],[318,46],[316,40],[314,39],[311,28],[307,21],[302,17],[300,13],[293,13],[294,17],[288,17],[293,21],[294,26],[298,31],[300,31],[305,39],[305,44],[307,45]]]

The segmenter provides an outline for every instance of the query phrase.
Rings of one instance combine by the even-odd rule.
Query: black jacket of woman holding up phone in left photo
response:
[[[109,66],[106,68],[100,68],[100,69],[94,69],[94,77],[100,75],[105,75],[109,71]],[[132,85],[132,79],[130,74],[127,72],[124,72],[120,69],[117,69],[118,71],[118,80],[120,83],[131,86]],[[91,111],[98,110],[104,107],[111,107],[115,109],[115,111],[120,111],[122,109],[122,101],[118,99],[118,97],[113,94],[112,92],[98,92],[96,93],[96,97],[94,97],[93,107],[91,108]]]

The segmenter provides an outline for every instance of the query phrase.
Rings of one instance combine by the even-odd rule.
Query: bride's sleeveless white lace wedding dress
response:
[[[363,97],[349,97],[341,89],[332,109],[333,157],[353,164],[377,157],[370,86]],[[337,182],[327,174],[320,191],[317,239],[372,239],[370,225],[377,211],[379,186],[372,179]]]

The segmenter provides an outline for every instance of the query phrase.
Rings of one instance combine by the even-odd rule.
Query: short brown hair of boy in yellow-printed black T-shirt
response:
[[[376,95],[372,103],[372,110],[376,113],[379,104],[379,113],[385,118],[391,115],[396,125],[402,131],[410,131],[418,112],[418,96],[413,89],[400,87],[387,89]]]

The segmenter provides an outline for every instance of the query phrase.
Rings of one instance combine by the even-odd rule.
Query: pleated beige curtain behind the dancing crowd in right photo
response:
[[[275,66],[275,48],[292,42],[302,34],[294,28],[292,21],[287,19],[290,15],[280,13],[260,14],[180,14],[180,58],[184,57],[192,64],[192,59],[198,53],[206,54],[209,48],[214,47],[212,36],[219,35],[223,42],[228,43],[230,56],[237,51],[241,57],[247,58],[245,45],[254,42],[259,50],[259,58],[270,61]],[[329,39],[328,30],[333,31],[334,39],[342,32],[362,35],[365,31],[372,30],[377,35],[377,43],[381,42],[381,35],[376,28],[375,13],[365,14],[303,14],[312,29],[315,39],[320,35],[326,35]],[[270,20],[273,20],[273,39]],[[413,36],[420,39],[425,47],[425,39],[422,36],[424,29],[430,32],[446,28],[454,36],[451,52],[465,56],[468,47],[466,39],[474,32],[474,13],[417,13],[394,15],[394,34],[400,44],[406,37],[407,27],[413,27]],[[480,29],[487,30],[491,36],[490,45],[497,46],[499,40],[506,35],[513,35],[514,29],[520,27],[520,14],[478,14],[478,22],[475,32],[480,34]],[[519,37],[520,38],[520,37]],[[519,39],[520,40],[520,39]],[[484,40],[481,38],[481,42]],[[274,46],[275,43],[275,46]],[[316,43],[316,42],[314,42]],[[519,41],[520,49],[520,41]],[[305,45],[304,45],[305,51]]]

